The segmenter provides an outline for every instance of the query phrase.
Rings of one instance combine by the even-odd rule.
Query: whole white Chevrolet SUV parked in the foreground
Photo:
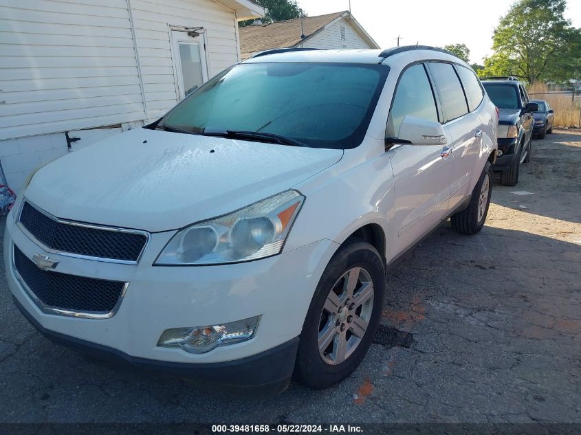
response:
[[[449,216],[481,230],[497,122],[440,49],[265,52],[37,170],[6,223],[10,291],[47,337],[135,366],[331,386],[386,268]]]

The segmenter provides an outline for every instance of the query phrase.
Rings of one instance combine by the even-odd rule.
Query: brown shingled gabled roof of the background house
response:
[[[353,25],[355,31],[364,38],[371,47],[379,48],[379,45],[373,41],[373,38],[365,32],[363,27],[353,18],[347,10],[334,12],[333,14],[305,16],[304,33],[305,38],[300,35],[300,18],[276,21],[263,25],[247,25],[239,28],[240,33],[240,52],[242,58],[248,58],[252,53],[263,52],[267,49],[288,48],[299,45],[309,38],[312,38],[318,32],[325,30],[325,27],[333,25],[340,19],[347,19]]]

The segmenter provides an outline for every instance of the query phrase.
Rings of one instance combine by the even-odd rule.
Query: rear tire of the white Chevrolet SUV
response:
[[[472,190],[468,207],[450,216],[452,228],[460,234],[472,235],[482,230],[490,205],[493,177],[492,165],[487,161],[478,183]]]

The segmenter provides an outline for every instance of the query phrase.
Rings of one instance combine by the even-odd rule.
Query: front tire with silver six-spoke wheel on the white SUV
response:
[[[384,293],[380,254],[369,243],[349,238],[331,258],[311,300],[295,379],[319,390],[351,375],[380,324]]]

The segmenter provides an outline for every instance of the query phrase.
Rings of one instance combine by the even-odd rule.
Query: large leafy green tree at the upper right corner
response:
[[[573,78],[581,58],[581,30],[564,18],[566,0],[518,0],[501,18],[485,58],[483,76],[562,81]]]

